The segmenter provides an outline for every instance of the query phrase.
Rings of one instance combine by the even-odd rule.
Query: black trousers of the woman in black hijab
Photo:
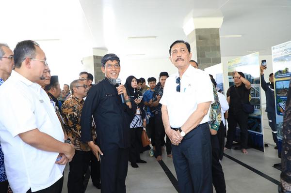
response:
[[[129,162],[136,163],[141,159],[140,152],[142,150],[142,132],[143,128],[129,129],[130,134],[130,148],[129,148]]]

